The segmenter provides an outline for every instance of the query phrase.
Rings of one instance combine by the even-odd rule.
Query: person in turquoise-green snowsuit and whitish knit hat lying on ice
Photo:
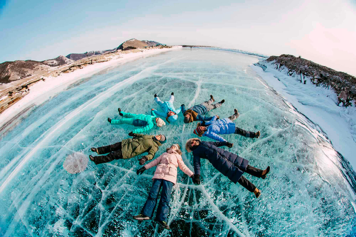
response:
[[[129,124],[135,127],[142,127],[136,128],[132,131],[132,133],[143,133],[152,129],[155,125],[157,127],[162,127],[163,125],[166,125],[166,123],[161,118],[158,118],[156,116],[155,111],[153,110],[151,111],[152,115],[126,113],[121,111],[120,108],[117,110],[119,110],[119,114],[124,118],[120,118],[117,120],[108,118],[109,123],[111,125]]]

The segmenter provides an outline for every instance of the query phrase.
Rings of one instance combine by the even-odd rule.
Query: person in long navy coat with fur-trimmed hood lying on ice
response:
[[[231,153],[230,151],[223,150],[219,147],[227,146],[232,147],[229,142],[205,142],[198,138],[190,138],[185,143],[185,149],[188,152],[193,151],[193,165],[194,165],[194,178],[193,183],[200,184],[200,159],[207,159],[216,170],[225,175],[229,180],[234,183],[239,183],[248,191],[253,192],[258,198],[261,192],[243,176],[244,172],[265,179],[269,173],[270,167],[265,170],[260,170],[256,167],[248,165],[248,160]]]

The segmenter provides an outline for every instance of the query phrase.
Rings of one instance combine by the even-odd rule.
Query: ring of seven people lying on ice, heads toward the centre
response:
[[[98,154],[98,156],[89,155],[90,160],[98,165],[115,159],[130,159],[147,152],[147,155],[144,155],[139,159],[139,164],[144,165],[146,161],[152,160],[155,157],[158,148],[167,142],[167,137],[163,134],[152,136],[140,133],[146,132],[154,126],[162,127],[163,125],[166,125],[166,123],[161,118],[157,117],[157,115],[165,117],[168,123],[174,123],[178,120],[178,114],[181,111],[184,115],[184,123],[201,121],[197,124],[197,128],[194,129],[194,134],[199,137],[206,136],[215,139],[217,142],[206,142],[199,138],[190,138],[187,140],[185,149],[188,153],[193,153],[194,173],[184,164],[179,144],[172,144],[170,147],[167,147],[166,152],[160,155],[157,159],[138,169],[136,171],[137,175],[142,174],[145,170],[150,169],[153,166],[157,166],[155,174],[152,177],[153,184],[148,193],[146,203],[143,206],[141,213],[133,216],[134,219],[149,220],[152,218],[153,211],[157,204],[158,193],[162,188],[155,221],[162,227],[169,229],[167,216],[172,187],[177,182],[177,167],[179,166],[185,174],[191,177],[194,184],[200,184],[200,159],[207,159],[216,170],[227,176],[232,182],[239,183],[248,191],[253,192],[256,198],[261,195],[260,190],[245,178],[243,174],[246,172],[252,176],[265,179],[270,169],[269,166],[265,170],[258,169],[250,166],[248,160],[239,155],[220,148],[223,146],[231,148],[233,143],[227,142],[218,134],[236,133],[249,138],[258,138],[260,136],[260,131],[249,132],[236,127],[235,123],[232,121],[239,117],[237,109],[234,110],[234,114],[230,117],[220,119],[217,115],[213,117],[203,116],[208,111],[220,107],[225,102],[225,100],[221,100],[219,103],[213,104],[215,101],[213,95],[210,95],[208,101],[195,105],[187,110],[185,109],[184,104],[182,104],[178,110],[174,108],[173,92],[168,101],[161,101],[155,94],[155,101],[161,106],[163,112],[152,109],[152,115],[137,115],[123,112],[119,108],[119,114],[123,118],[118,120],[108,118],[108,121],[112,125],[125,123],[141,128],[137,128],[129,133],[129,136],[132,138],[124,139],[121,142],[104,147],[90,148],[91,151]]]

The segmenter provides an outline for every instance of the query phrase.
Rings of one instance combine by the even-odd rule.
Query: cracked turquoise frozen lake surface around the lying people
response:
[[[318,127],[276,95],[249,67],[258,58],[230,52],[183,49],[127,62],[77,81],[31,108],[1,130],[1,236],[343,236],[355,219],[354,187],[343,160]],[[155,168],[137,176],[137,159],[117,160],[70,174],[66,157],[127,138],[131,126],[110,126],[117,108],[132,113],[158,109],[157,93],[176,108],[213,94],[226,103],[210,115],[228,117],[237,108],[238,127],[261,131],[260,139],[223,135],[227,148],[265,169],[266,180],[245,175],[259,199],[202,160],[203,185],[178,171],[168,222],[137,222]],[[168,136],[164,148],[184,147],[195,124],[155,128]],[[208,139],[208,138],[203,138]],[[192,155],[183,152],[193,170]],[[349,180],[349,181],[348,181]]]

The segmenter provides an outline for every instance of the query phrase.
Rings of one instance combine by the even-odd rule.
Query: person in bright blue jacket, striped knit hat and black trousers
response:
[[[197,128],[194,129],[193,133],[199,137],[206,136],[219,142],[224,142],[226,140],[218,134],[235,133],[249,138],[260,137],[260,131],[248,132],[242,128],[236,127],[236,124],[232,121],[239,117],[239,112],[237,109],[234,109],[234,112],[235,113],[228,118],[219,119],[219,116],[215,115],[208,122],[201,121],[201,123],[197,124]]]

